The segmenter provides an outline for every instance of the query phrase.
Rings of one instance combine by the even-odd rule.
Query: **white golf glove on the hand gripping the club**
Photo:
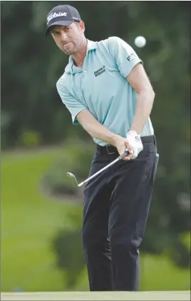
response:
[[[131,159],[137,158],[138,154],[143,151],[143,143],[140,139],[140,135],[135,131],[129,131],[126,133],[126,138],[130,144],[130,148],[133,150],[133,156]],[[126,149],[128,151],[128,149]]]

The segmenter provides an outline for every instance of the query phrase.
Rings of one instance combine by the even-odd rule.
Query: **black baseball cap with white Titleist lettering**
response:
[[[81,16],[75,7],[70,5],[58,5],[49,11],[46,17],[46,31],[45,36],[49,33],[51,26],[61,25],[68,26],[74,21],[80,22]]]

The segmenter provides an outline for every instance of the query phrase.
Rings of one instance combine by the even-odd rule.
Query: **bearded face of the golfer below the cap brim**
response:
[[[83,21],[73,22],[69,26],[53,26],[51,35],[61,51],[67,55],[76,53],[83,45],[85,26]]]

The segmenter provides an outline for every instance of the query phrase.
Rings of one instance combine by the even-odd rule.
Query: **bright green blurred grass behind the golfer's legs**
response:
[[[1,155],[1,290],[65,290],[64,272],[56,266],[51,241],[68,219],[74,203],[48,198],[40,189],[46,169],[64,157],[61,148]],[[81,208],[79,208],[81,210]],[[167,257],[141,257],[142,290],[188,290],[190,271]],[[88,290],[86,269],[76,290]]]

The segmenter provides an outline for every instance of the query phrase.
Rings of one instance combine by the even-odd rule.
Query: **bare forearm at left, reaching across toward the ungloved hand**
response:
[[[84,110],[79,113],[77,118],[85,131],[88,132],[93,138],[97,138],[112,146],[115,146],[119,136],[100,124],[88,110]]]

